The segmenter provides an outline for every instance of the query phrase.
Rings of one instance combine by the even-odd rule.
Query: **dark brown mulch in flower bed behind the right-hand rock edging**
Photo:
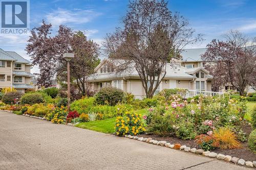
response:
[[[246,133],[246,137],[248,139],[248,136],[251,132],[251,127],[248,124],[245,124],[242,129]],[[138,135],[138,137],[146,137],[146,138],[151,137],[154,140],[158,140],[158,141],[163,140],[163,141],[167,141],[171,144],[180,143],[181,145],[186,145],[187,147],[190,147],[190,148],[197,148],[197,149],[200,148],[195,140],[182,140],[182,139],[179,139],[179,138],[173,137],[173,136],[161,137],[158,135],[143,134],[143,135]],[[240,148],[240,149],[225,149],[225,150],[215,149],[215,150],[212,150],[211,152],[215,152],[218,154],[224,154],[224,155],[230,155],[232,157],[242,158],[245,161],[256,161],[256,154],[254,154],[253,152],[251,152],[248,149],[247,141],[243,142],[241,144],[242,144],[242,148]]]

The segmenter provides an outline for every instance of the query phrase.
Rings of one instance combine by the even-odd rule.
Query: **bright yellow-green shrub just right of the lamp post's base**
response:
[[[79,114],[89,113],[90,109],[94,106],[95,98],[83,98],[71,103],[71,110],[76,110]]]

